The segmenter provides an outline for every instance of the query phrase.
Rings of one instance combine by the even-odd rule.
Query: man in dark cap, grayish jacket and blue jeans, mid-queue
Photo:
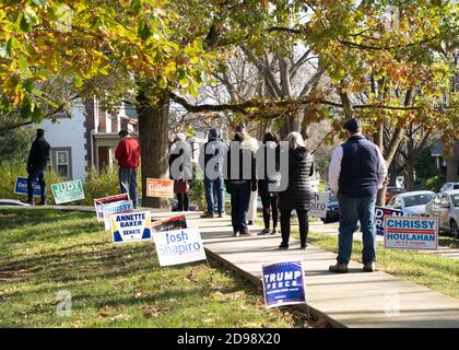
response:
[[[225,212],[225,194],[223,188],[223,156],[227,147],[220,138],[217,129],[209,130],[209,141],[204,144],[204,189],[208,211],[202,218],[222,218]],[[216,202],[215,202],[216,201]],[[216,209],[216,210],[215,210]]]

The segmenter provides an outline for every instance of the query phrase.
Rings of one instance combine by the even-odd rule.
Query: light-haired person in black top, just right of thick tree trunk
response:
[[[191,154],[191,145],[186,142],[186,135],[184,132],[177,132],[175,140],[170,145],[170,155],[169,155],[169,174],[170,178],[174,179],[174,192],[177,196],[177,206],[173,211],[188,211],[189,210],[189,183],[185,179],[185,160],[184,163],[179,165],[179,174],[173,174],[172,164],[176,159],[181,156],[185,153],[184,148],[188,149],[188,154]],[[179,149],[178,152],[176,149]]]

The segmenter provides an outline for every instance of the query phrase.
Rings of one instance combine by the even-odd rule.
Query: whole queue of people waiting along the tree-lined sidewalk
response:
[[[376,232],[375,232],[375,205],[378,189],[382,188],[387,168],[380,150],[376,144],[365,139],[362,135],[362,126],[358,119],[350,119],[344,125],[348,141],[339,145],[332,153],[329,166],[329,187],[337,195],[340,208],[339,228],[339,253],[337,265],[330,266],[331,272],[348,272],[348,265],[351,259],[352,237],[356,230],[357,222],[361,222],[363,232],[363,270],[375,271],[376,262]],[[140,165],[140,145],[136,138],[129,136],[127,130],[119,132],[120,142],[116,149],[115,158],[119,164],[119,185],[122,194],[129,192],[134,208],[137,207],[137,168]],[[169,166],[183,154],[175,152],[174,148],[180,142],[186,144],[185,133],[177,133],[175,142],[170,148]],[[280,140],[274,132],[267,132],[261,144],[250,137],[243,126],[235,129],[234,142],[240,145],[239,162],[232,164],[232,148],[221,138],[217,129],[210,129],[208,142],[204,144],[203,185],[205,190],[207,212],[203,218],[222,218],[225,214],[225,194],[231,196],[231,218],[234,236],[247,235],[248,226],[255,223],[257,214],[257,197],[260,196],[262,203],[264,229],[260,235],[276,234],[278,223],[281,224],[282,242],[280,249],[289,248],[291,233],[292,211],[296,211],[299,224],[299,248],[307,247],[308,234],[308,211],[311,208],[314,191],[311,180],[315,176],[314,158],[305,145],[301,133],[294,131],[285,138],[287,149],[281,152]],[[259,148],[263,152],[258,152]],[[37,137],[32,144],[27,161],[27,202],[33,205],[33,182],[38,179],[42,188],[40,205],[46,203],[44,171],[49,162],[49,144],[44,138],[44,130],[37,130]],[[271,152],[268,152],[270,150]],[[222,155],[225,154],[225,158]],[[244,158],[249,155],[250,167]],[[263,160],[257,160],[256,155],[261,154]],[[279,187],[283,179],[282,172],[268,172],[264,168],[264,176],[257,178],[256,163],[262,162],[267,167],[268,154],[274,154],[275,167],[279,170],[281,158],[287,159],[289,172],[286,188],[280,191],[272,190]],[[224,161],[215,161],[220,156]],[[213,162],[213,163],[210,163]],[[212,164],[217,176],[210,176],[205,168]],[[172,173],[172,172],[170,172]],[[226,176],[223,176],[226,174]],[[248,176],[247,176],[248,174]],[[177,195],[175,210],[187,211],[189,209],[187,176],[175,178],[174,191]],[[270,225],[272,219],[272,228]]]

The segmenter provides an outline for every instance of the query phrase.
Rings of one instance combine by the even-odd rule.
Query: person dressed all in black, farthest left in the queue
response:
[[[40,201],[38,206],[46,206],[46,182],[45,168],[49,163],[50,145],[45,140],[45,130],[37,129],[36,138],[32,142],[31,151],[27,159],[27,201],[26,203],[34,206],[34,187],[33,184],[38,179],[40,188]]]

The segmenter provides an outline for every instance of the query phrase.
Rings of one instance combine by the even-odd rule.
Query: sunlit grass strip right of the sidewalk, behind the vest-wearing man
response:
[[[299,240],[298,229],[292,228],[295,237]],[[456,246],[448,237],[440,237],[442,245]],[[326,233],[309,232],[308,243],[326,250],[338,253],[338,236]],[[377,245],[376,256],[379,271],[397,276],[401,279],[425,285],[440,293],[459,298],[459,260],[417,253],[414,250],[385,249]],[[352,257],[362,261],[362,242],[352,245]]]

